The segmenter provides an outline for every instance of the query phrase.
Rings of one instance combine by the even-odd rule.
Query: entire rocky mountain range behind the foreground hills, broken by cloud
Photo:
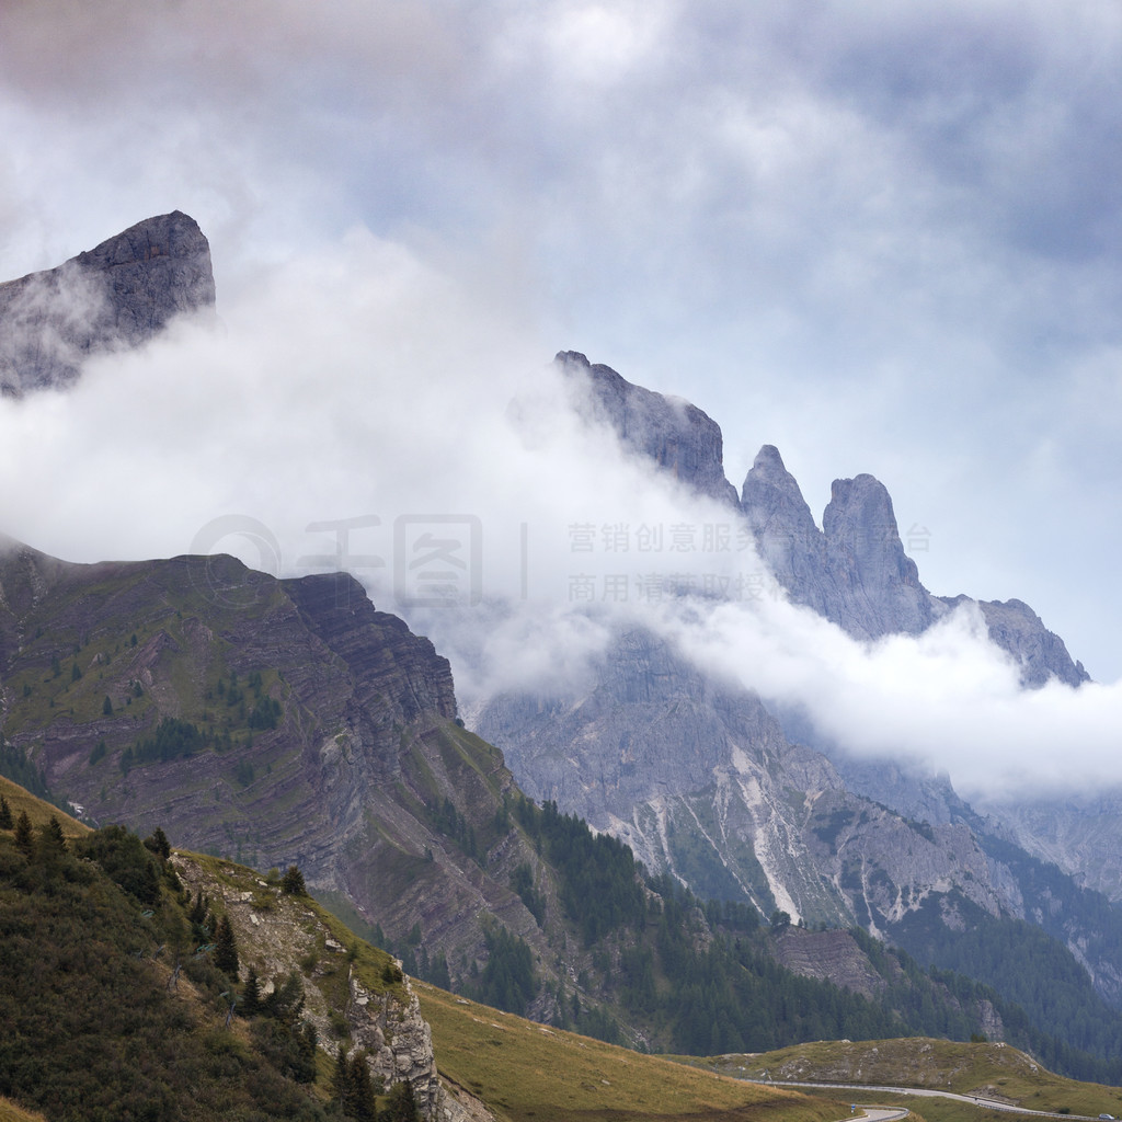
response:
[[[195,230],[178,213],[153,219],[77,265],[0,287],[8,392],[65,386],[85,356],[209,309]],[[68,287],[76,269],[101,293],[85,327]],[[774,448],[738,496],[720,430],[700,410],[577,352],[557,361],[586,420],[652,473],[728,509],[793,603],[870,640],[919,634],[962,600],[920,583],[873,477],[836,481],[819,530]],[[1027,605],[978,609],[1026,689],[1087,681]],[[643,956],[671,980],[655,907],[698,940],[725,938],[725,913],[690,918],[714,900],[739,917],[728,938],[763,917],[776,934],[769,954],[857,992],[867,969],[848,953],[784,951],[779,936],[859,927],[994,986],[964,999],[971,1031],[1006,1031],[1020,1013],[994,1002],[1030,996],[1002,988],[1018,982],[996,946],[1057,976],[1057,963],[1072,964],[1075,1004],[1122,1005],[1122,919],[1107,900],[1122,896],[1122,846],[1101,825],[1118,815],[1109,799],[986,817],[946,778],[827,754],[798,714],[640,625],[613,635],[580,688],[472,699],[479,736],[458,712],[447,659],[346,574],[276,580],[222,557],[76,565],[0,549],[0,734],[12,766],[36,770],[89,819],[160,826],[178,845],[261,870],[298,863],[340,914],[450,986],[504,994],[555,1023],[663,1045],[681,1043],[679,1031],[692,1043],[696,1026],[671,1031],[657,987],[644,988]],[[594,839],[581,819],[617,842]],[[674,911],[682,889],[691,902]],[[862,954],[875,958],[872,945]],[[819,959],[845,965],[835,978]],[[1096,1009],[1113,1033],[1114,1012]],[[720,1015],[721,1039],[747,1031]],[[1032,1031],[1051,1015],[1038,1010]],[[1064,1047],[1103,1057],[1114,1039]]]

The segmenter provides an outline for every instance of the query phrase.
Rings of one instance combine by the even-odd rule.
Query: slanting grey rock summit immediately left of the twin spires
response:
[[[609,425],[626,448],[650,457],[698,494],[736,505],[716,421],[689,402],[635,386],[608,366],[594,366],[579,351],[560,351],[554,361],[587,390],[578,408],[588,420]]]

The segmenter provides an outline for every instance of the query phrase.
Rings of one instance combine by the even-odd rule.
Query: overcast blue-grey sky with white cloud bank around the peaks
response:
[[[180,209],[226,333],[8,408],[0,530],[611,517],[579,435],[541,473],[504,443],[574,349],[709,413],[737,488],[764,443],[819,519],[872,472],[929,589],[1027,600],[1114,683],[1120,58],[1116,0],[6,0],[0,277]]]

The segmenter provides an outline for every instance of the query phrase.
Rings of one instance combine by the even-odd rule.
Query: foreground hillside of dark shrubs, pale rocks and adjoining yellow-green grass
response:
[[[0,1120],[367,1116],[343,1109],[331,1054],[373,1047],[376,1022],[406,1031],[408,983],[384,951],[293,877],[89,830],[2,779],[0,795],[12,818],[0,828]],[[836,1103],[417,990],[447,1093],[499,1120],[838,1116]],[[385,1122],[406,1116],[395,1094],[373,1100]]]

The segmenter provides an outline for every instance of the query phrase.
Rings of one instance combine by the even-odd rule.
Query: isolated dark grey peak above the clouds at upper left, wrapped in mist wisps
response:
[[[65,386],[90,356],[138,347],[213,304],[210,246],[194,219],[146,219],[57,268],[0,284],[0,390]]]

